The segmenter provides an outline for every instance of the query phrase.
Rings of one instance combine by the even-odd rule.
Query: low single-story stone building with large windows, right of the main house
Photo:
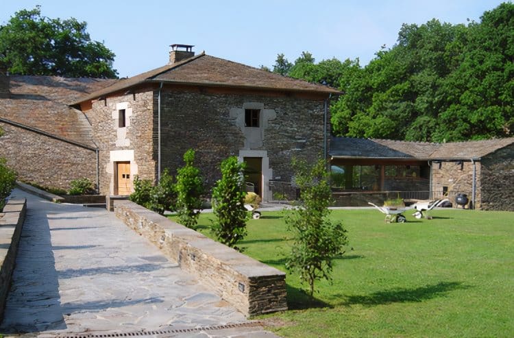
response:
[[[514,138],[424,143],[334,137],[332,176],[339,204],[387,198],[467,195],[467,207],[514,211]]]

